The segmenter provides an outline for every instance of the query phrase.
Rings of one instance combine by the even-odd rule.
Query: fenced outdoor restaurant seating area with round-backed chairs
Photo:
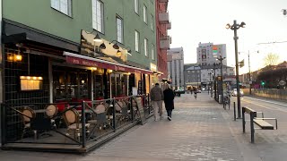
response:
[[[145,117],[152,114],[148,96],[143,98]],[[54,144],[78,148],[116,137],[117,131],[139,123],[134,96],[56,104],[3,105],[6,144]],[[114,135],[114,136],[113,136]],[[23,144],[21,145],[23,146]],[[55,146],[57,147],[57,146]]]

